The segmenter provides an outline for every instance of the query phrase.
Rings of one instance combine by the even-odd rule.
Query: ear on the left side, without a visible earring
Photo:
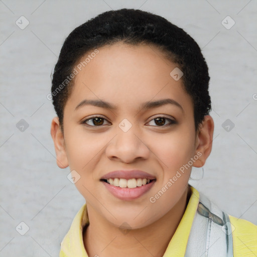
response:
[[[56,163],[59,168],[64,169],[69,166],[65,144],[64,135],[61,131],[59,118],[56,116],[52,120],[51,124],[51,136],[54,141],[55,153],[56,153]]]

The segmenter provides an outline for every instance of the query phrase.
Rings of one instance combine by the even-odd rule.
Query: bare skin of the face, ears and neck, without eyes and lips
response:
[[[204,165],[212,147],[213,119],[206,115],[195,131],[192,99],[182,79],[170,76],[177,66],[156,47],[116,43],[98,50],[75,76],[64,108],[64,135],[58,117],[52,120],[57,165],[80,175],[75,186],[87,203],[90,224],[83,239],[90,257],[163,256],[186,209],[191,168],[155,203],[149,199],[197,152],[201,157],[193,166]],[[174,99],[183,110],[174,104],[141,107],[165,98]],[[117,109],[84,105],[74,110],[84,99],[101,99]],[[93,120],[87,121],[88,126],[80,123],[93,115],[104,118],[101,125]],[[155,118],[163,115],[167,119],[159,125]],[[132,124],[127,132],[118,126],[124,118]],[[169,118],[177,123],[169,126]],[[121,169],[146,171],[157,178],[156,183],[140,198],[122,201],[100,181],[104,174]],[[126,234],[120,230],[123,222],[131,228]]]

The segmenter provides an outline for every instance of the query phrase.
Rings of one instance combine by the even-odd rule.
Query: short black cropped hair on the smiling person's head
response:
[[[208,66],[198,44],[183,29],[161,16],[141,10],[120,9],[88,20],[75,28],[63,43],[51,88],[62,132],[64,107],[74,85],[71,74],[76,63],[89,51],[117,42],[154,45],[178,66],[183,72],[184,90],[194,103],[197,130],[211,110]]]

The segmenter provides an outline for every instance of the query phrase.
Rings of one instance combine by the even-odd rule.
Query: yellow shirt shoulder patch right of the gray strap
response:
[[[231,223],[234,257],[257,256],[257,225],[228,215]]]

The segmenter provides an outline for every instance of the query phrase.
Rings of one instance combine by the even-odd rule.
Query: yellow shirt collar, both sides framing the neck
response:
[[[199,203],[199,192],[191,185],[189,187],[191,196],[188,205],[163,257],[185,255],[189,233]],[[82,236],[83,227],[88,223],[87,208],[84,204],[74,217],[68,233],[61,242],[60,257],[88,257]]]

